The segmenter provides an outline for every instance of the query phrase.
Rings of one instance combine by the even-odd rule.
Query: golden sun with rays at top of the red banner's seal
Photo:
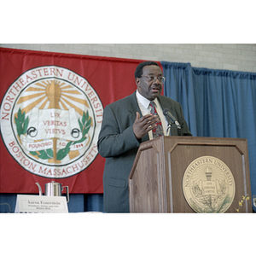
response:
[[[29,93],[29,95],[20,97],[17,104],[27,102],[28,105],[22,108],[22,112],[25,111],[26,113],[29,113],[32,108],[39,106],[39,109],[55,108],[68,110],[69,108],[74,108],[82,116],[84,110],[77,107],[73,102],[80,103],[87,108],[90,108],[89,104],[86,100],[75,96],[81,96],[79,90],[72,89],[71,85],[64,82],[55,79],[45,80],[33,84],[33,86],[26,89],[26,93]]]

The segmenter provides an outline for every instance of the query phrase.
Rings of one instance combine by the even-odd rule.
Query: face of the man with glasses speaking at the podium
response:
[[[146,77],[144,77],[146,76]],[[145,66],[143,67],[143,77],[136,79],[137,90],[138,92],[147,98],[149,101],[153,101],[156,97],[160,96],[162,91],[162,84],[159,79],[155,81],[149,81],[147,77],[162,77],[163,73],[158,66]]]

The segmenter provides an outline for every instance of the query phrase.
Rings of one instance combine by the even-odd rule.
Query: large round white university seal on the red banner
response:
[[[1,134],[9,154],[26,171],[71,177],[98,154],[102,113],[100,97],[82,76],[64,67],[35,67],[3,96]]]

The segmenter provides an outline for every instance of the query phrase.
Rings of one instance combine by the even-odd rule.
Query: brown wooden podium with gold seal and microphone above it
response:
[[[252,212],[247,140],[159,137],[142,143],[130,212]]]

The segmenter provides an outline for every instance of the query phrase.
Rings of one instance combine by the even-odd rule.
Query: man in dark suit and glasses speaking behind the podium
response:
[[[153,138],[152,130],[160,120],[164,135],[167,135],[168,123],[163,109],[168,109],[181,126],[181,129],[172,129],[172,136],[192,136],[181,105],[160,95],[164,80],[156,62],[142,62],[135,72],[137,91],[104,109],[97,143],[99,154],[106,158],[103,174],[104,212],[129,212],[128,177],[131,167],[138,147]],[[151,101],[154,101],[159,117],[150,113]]]

